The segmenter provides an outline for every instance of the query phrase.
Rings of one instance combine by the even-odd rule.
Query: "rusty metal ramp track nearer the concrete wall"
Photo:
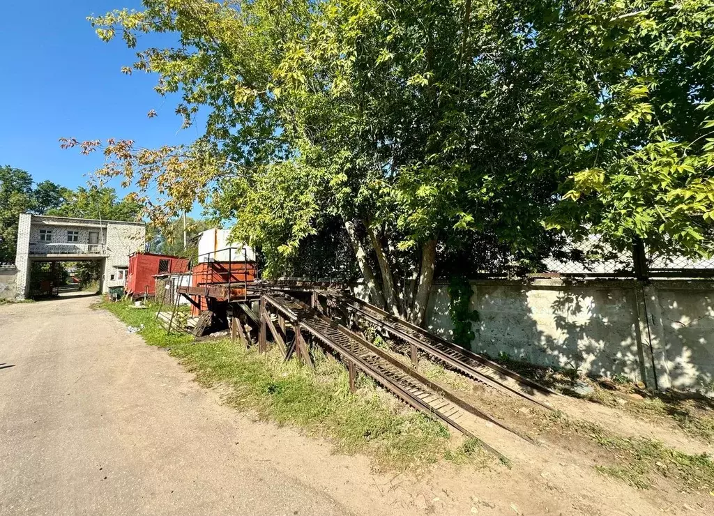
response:
[[[347,310],[351,313],[355,313],[369,323],[381,328],[381,330],[390,333],[393,337],[403,340],[423,353],[446,363],[463,375],[467,375],[491,388],[525,398],[548,410],[554,410],[548,403],[534,398],[531,394],[537,391],[546,395],[560,396],[554,390],[504,368],[502,365],[493,362],[493,360],[488,360],[470,350],[461,348],[459,345],[450,343],[448,340],[438,337],[438,335],[433,335],[433,333],[408,323],[406,320],[396,318],[385,310],[381,310],[381,308],[370,305],[363,300],[349,295],[342,295],[341,299],[336,298],[334,294],[328,294],[328,296],[335,298],[336,303],[340,303],[342,300]]]

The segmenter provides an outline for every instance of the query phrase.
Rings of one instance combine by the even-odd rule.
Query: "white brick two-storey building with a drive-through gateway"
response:
[[[124,285],[129,255],[144,251],[143,222],[97,221],[22,213],[17,233],[17,297],[29,294],[32,262],[101,261],[101,292]]]

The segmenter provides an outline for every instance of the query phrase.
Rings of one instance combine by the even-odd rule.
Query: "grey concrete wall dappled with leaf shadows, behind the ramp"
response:
[[[472,288],[471,308],[480,319],[473,323],[476,338],[471,343],[477,353],[573,368],[593,376],[625,375],[633,381],[652,377],[648,335],[643,335],[645,346],[640,345],[637,284],[632,281],[585,285],[544,280],[527,285],[484,280],[472,282]],[[690,290],[664,290],[659,298],[668,358],[663,366],[670,364],[672,385],[709,390],[714,349],[712,337],[705,335],[714,335],[712,291],[692,296]],[[451,340],[448,306],[446,285],[439,285],[431,299],[428,325]]]

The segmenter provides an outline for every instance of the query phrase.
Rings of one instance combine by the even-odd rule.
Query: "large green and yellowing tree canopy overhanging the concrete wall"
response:
[[[710,1],[144,6],[91,23],[131,48],[175,34],[123,71],[178,92],[184,126],[206,110],[203,134],[63,145],[101,148],[102,176],[155,185],[168,198],[158,218],[197,199],[236,221],[268,273],[332,235],[373,300],[421,322],[440,270],[538,268],[588,233],[619,250],[640,238],[656,253],[713,253]]]

